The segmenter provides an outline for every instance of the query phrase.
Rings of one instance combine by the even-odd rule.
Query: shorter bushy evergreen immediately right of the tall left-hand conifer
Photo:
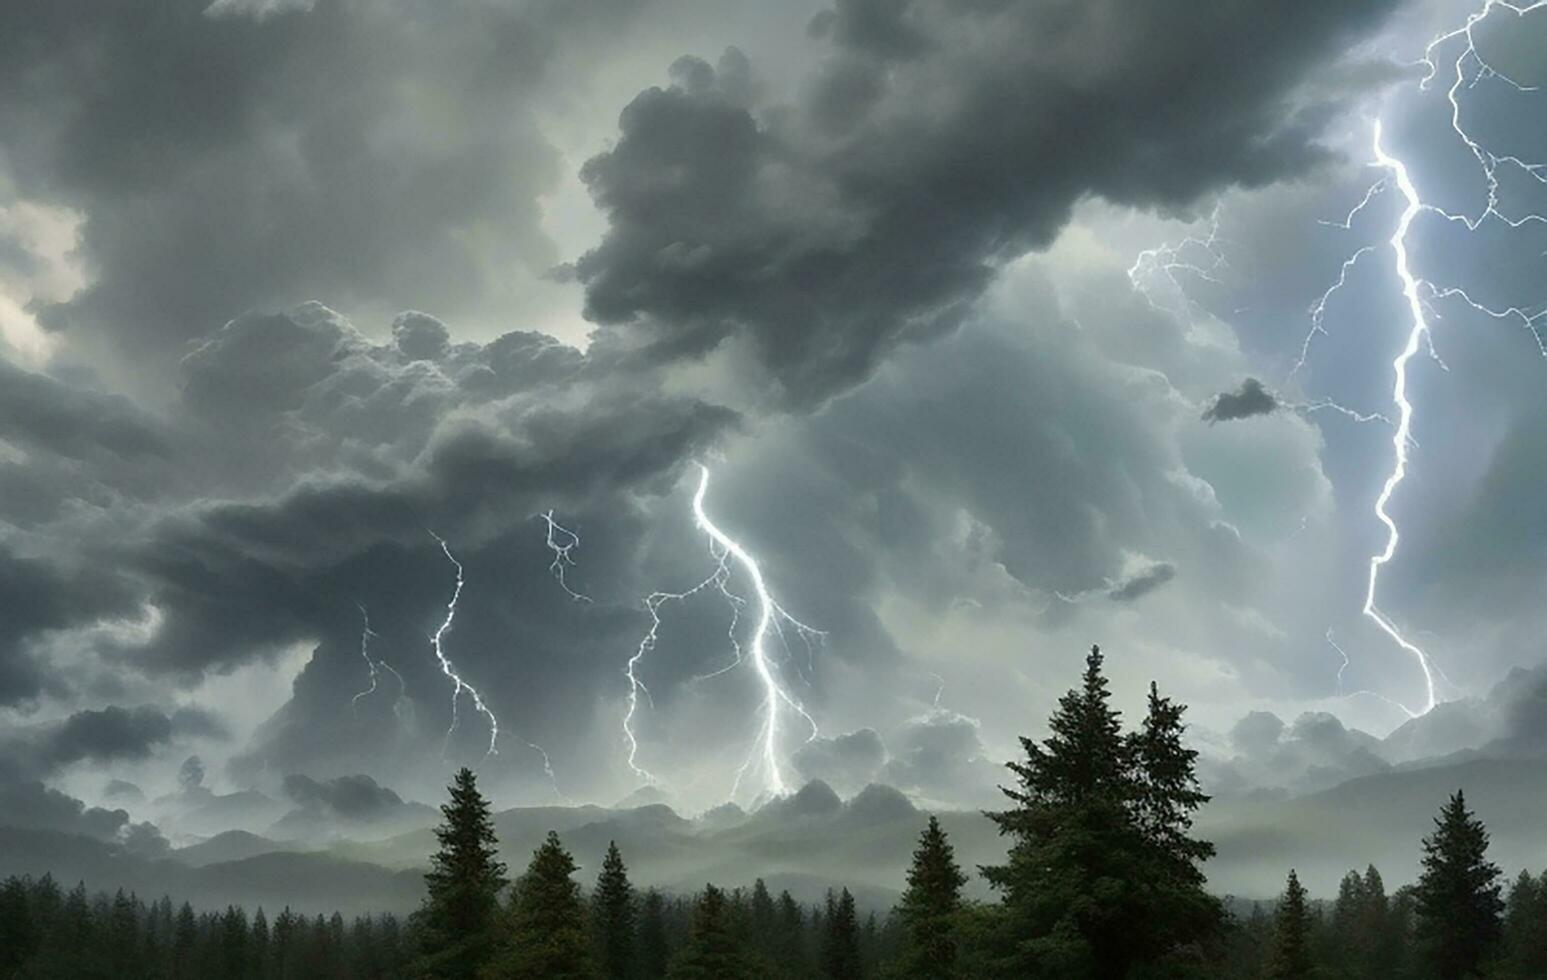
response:
[[[585,903],[574,881],[574,858],[548,831],[511,901],[511,937],[498,960],[498,977],[594,977]]]

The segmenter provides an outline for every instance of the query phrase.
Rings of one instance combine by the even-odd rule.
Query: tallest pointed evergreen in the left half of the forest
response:
[[[492,951],[500,890],[506,884],[478,777],[464,766],[449,790],[452,799],[441,805],[444,821],[435,828],[439,850],[424,876],[429,895],[418,912],[422,954],[418,969],[425,977],[478,972]]]

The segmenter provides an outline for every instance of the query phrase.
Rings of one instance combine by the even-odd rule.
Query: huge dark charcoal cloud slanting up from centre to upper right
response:
[[[662,358],[746,336],[786,399],[821,399],[956,325],[1086,195],[1180,209],[1324,159],[1340,96],[1301,82],[1391,6],[845,0],[787,107],[749,104],[736,51],[682,59],[582,170],[610,220],[586,313]]]

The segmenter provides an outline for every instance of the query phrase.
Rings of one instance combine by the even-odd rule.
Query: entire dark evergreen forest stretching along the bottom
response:
[[[848,889],[806,907],[763,884],[637,892],[617,847],[589,887],[554,833],[514,881],[497,856],[489,802],[461,769],[441,807],[422,907],[308,920],[289,909],[195,913],[170,898],[65,892],[50,878],[0,886],[3,977],[1047,977],[1439,978],[1547,977],[1547,873],[1508,886],[1462,793],[1416,847],[1423,872],[1389,893],[1369,867],[1335,899],[1287,872],[1276,903],[1205,890],[1213,845],[1191,834],[1207,802],[1183,706],[1154,684],[1125,732],[1101,653],[1060,700],[1043,742],[1009,763],[1006,810],[989,814],[1006,862],[972,869],[998,901],[962,898],[939,824],[920,828],[894,909],[862,913]]]

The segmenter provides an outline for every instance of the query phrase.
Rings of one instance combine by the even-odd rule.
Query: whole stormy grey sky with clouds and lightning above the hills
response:
[[[976,807],[1091,644],[1221,759],[1479,698],[1544,661],[1544,53],[1494,0],[8,3],[0,782]]]

